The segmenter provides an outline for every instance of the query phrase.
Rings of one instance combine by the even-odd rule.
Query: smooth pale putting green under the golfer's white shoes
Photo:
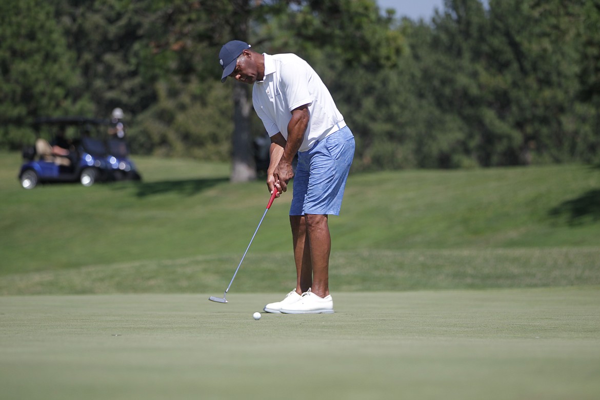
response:
[[[600,287],[0,297],[2,399],[597,399]]]

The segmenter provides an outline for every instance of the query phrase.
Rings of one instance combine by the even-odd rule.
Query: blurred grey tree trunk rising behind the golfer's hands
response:
[[[252,102],[247,84],[233,83],[233,104],[233,165],[230,181],[253,181],[256,179],[256,164],[250,130]]]

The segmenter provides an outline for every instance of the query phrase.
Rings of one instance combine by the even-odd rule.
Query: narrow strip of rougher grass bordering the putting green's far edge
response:
[[[100,264],[0,275],[0,295],[223,291],[239,254]],[[287,293],[291,252],[250,252],[233,293]],[[334,291],[399,291],[600,285],[600,247],[334,251]]]

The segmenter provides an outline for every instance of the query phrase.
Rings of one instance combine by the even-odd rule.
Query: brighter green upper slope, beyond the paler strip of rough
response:
[[[16,180],[18,155],[2,154],[0,276],[241,257],[269,197],[263,182],[232,185],[225,164],[134,161],[141,184],[26,191]],[[351,175],[342,215],[330,218],[333,249],[594,251],[600,247],[599,188],[600,170],[586,166]],[[251,254],[289,254],[289,201],[289,193],[275,201]],[[569,257],[586,265],[577,254]]]

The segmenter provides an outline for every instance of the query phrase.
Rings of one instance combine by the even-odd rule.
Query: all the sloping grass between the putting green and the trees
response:
[[[265,209],[265,184],[230,184],[226,164],[135,161],[139,184],[28,191],[19,155],[0,154],[0,293],[225,286]],[[269,210],[237,291],[293,285],[290,197]],[[355,174],[329,220],[342,290],[600,284],[600,170],[589,166]]]

